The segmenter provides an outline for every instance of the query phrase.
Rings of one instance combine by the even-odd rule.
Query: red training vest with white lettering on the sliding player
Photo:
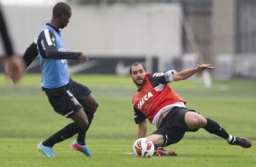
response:
[[[172,88],[168,84],[165,84],[162,91],[154,90],[148,80],[150,75],[146,74],[143,87],[133,95],[133,106],[140,110],[152,123],[155,114],[164,106],[176,102],[186,102],[177,93],[172,91]]]

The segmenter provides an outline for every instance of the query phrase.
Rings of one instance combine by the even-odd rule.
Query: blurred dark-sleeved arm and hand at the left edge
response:
[[[5,23],[5,17],[2,13],[0,6],[0,33],[3,39],[5,48],[5,73],[13,80],[14,83],[18,83],[25,71],[25,63],[23,59],[15,54],[13,44],[11,42],[7,26]]]

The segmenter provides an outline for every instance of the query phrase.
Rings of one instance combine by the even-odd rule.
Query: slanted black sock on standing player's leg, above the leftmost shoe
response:
[[[63,142],[64,140],[74,136],[74,134],[81,132],[82,129],[76,125],[76,123],[70,123],[66,125],[62,130],[54,133],[51,137],[43,142],[44,146],[53,147],[57,142]]]

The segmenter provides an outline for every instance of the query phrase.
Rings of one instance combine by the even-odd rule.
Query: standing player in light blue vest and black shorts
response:
[[[62,142],[78,133],[72,148],[92,156],[84,139],[98,107],[86,86],[70,79],[66,59],[78,60],[81,63],[88,61],[83,53],[66,52],[60,34],[72,15],[71,7],[63,2],[53,8],[52,19],[44,25],[38,38],[25,51],[26,66],[32,63],[39,54],[42,71],[42,89],[52,104],[54,111],[71,118],[74,123],[67,124],[59,132],[40,142],[37,148],[46,157],[54,157],[54,144]],[[37,48],[37,49],[36,49]]]

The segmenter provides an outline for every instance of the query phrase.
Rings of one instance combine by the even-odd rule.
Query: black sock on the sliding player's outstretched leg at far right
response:
[[[216,134],[223,139],[227,140],[230,137],[230,134],[227,133],[218,123],[212,121],[209,118],[207,119],[207,124],[203,127],[207,132]]]

